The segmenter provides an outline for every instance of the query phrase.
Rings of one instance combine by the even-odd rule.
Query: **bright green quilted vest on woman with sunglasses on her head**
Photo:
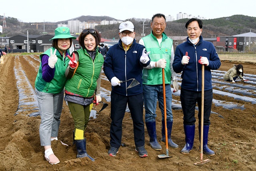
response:
[[[79,55],[78,68],[74,76],[67,80],[65,90],[82,95],[83,97],[92,97],[97,86],[104,58],[98,50],[96,51],[94,62],[85,49],[81,48],[76,52]]]

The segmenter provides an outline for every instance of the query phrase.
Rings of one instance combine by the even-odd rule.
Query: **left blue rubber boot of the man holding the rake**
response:
[[[185,141],[186,144],[184,148],[180,151],[182,154],[188,154],[194,145],[194,138],[195,138],[195,125],[184,125],[184,132],[185,132]]]

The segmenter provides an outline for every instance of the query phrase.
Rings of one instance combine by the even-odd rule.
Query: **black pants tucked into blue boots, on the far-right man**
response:
[[[194,125],[195,107],[198,104],[198,123],[201,123],[202,91],[180,90],[180,101],[183,111],[183,124]],[[210,125],[210,113],[212,109],[212,89],[204,91],[204,125]]]

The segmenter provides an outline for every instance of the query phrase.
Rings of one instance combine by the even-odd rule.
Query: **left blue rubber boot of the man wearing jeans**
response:
[[[162,150],[161,145],[158,143],[156,139],[156,121],[153,122],[146,122],[146,127],[148,130],[148,135],[149,135],[149,145],[152,147],[154,150]]]

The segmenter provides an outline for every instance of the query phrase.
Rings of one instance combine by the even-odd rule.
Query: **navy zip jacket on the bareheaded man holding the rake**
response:
[[[182,57],[188,52],[190,60],[188,64],[181,63]],[[202,65],[198,62],[200,56],[207,57],[209,65],[204,67],[204,90],[212,89],[211,70],[220,68],[220,58],[211,42],[206,42],[200,36],[198,44],[194,46],[188,38],[187,41],[178,45],[175,50],[173,70],[182,72],[181,87],[192,91],[202,91]]]

